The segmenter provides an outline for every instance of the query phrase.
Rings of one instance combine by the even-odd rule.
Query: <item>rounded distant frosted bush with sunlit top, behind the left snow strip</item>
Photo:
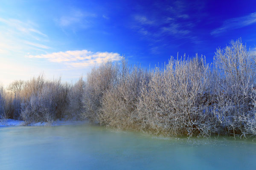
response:
[[[68,86],[61,79],[46,81],[43,77],[26,82],[21,103],[21,116],[26,124],[51,122],[63,116],[67,108]]]

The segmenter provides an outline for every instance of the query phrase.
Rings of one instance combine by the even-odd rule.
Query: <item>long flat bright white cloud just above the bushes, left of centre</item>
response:
[[[50,62],[58,62],[75,68],[97,65],[108,59],[111,61],[119,61],[122,58],[118,53],[92,52],[87,50],[60,51],[51,54],[29,55],[26,57],[47,59]]]

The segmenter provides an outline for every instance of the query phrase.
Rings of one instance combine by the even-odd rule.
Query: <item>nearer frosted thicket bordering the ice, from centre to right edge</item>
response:
[[[255,59],[238,40],[218,49],[212,66],[184,56],[145,73],[121,69],[96,117],[103,125],[165,136],[255,136]]]

